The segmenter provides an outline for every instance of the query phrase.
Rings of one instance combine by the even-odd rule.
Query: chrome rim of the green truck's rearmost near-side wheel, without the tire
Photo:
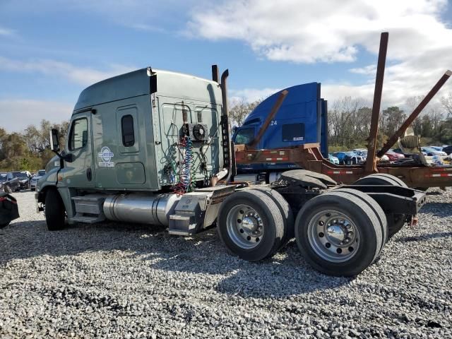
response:
[[[360,246],[355,222],[337,210],[314,215],[308,225],[308,240],[318,256],[333,263],[350,260]]]

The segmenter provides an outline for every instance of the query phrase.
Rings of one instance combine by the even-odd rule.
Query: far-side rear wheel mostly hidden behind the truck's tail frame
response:
[[[393,185],[400,187],[408,187],[405,182],[391,174],[370,174],[367,177],[358,179],[354,185]],[[406,215],[404,214],[386,214],[388,220],[388,239],[400,231],[405,225]]]

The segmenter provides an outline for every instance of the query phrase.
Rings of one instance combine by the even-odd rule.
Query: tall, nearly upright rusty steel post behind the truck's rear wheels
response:
[[[379,61],[376,66],[374,104],[372,105],[372,117],[370,124],[369,143],[367,145],[367,160],[365,171],[378,172],[376,169],[375,153],[376,138],[379,131],[379,116],[381,106],[381,92],[383,90],[384,67],[386,64],[386,51],[388,50],[388,32],[382,32],[380,37]]]

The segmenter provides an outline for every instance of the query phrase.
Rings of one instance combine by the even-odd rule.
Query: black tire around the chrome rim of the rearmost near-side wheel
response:
[[[325,215],[328,216],[328,213],[333,213],[333,211],[350,218],[357,227],[358,237],[354,238],[348,247],[350,251],[348,255],[352,256],[342,262],[322,258],[319,250],[316,250],[314,244],[311,243],[308,234],[314,227],[313,222],[316,222],[317,215],[326,213]],[[319,225],[321,225],[320,222]],[[319,237],[324,237],[324,235],[319,233]],[[381,233],[379,219],[374,210],[367,206],[367,203],[352,194],[338,192],[336,194],[321,194],[304,204],[295,220],[295,239],[304,258],[316,270],[328,275],[348,277],[361,273],[374,262],[381,249],[383,234]],[[358,248],[350,250],[351,245],[356,243],[359,244]],[[326,248],[331,247],[331,245],[327,246],[328,244],[326,244]],[[351,251],[355,252],[352,254]],[[338,254],[340,255],[340,252]]]

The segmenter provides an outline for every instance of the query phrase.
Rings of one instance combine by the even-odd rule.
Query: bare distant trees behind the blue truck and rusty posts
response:
[[[421,102],[423,97],[410,97],[405,107],[386,107],[380,113],[379,146],[395,133]],[[234,126],[242,126],[246,116],[261,102],[230,103]],[[371,123],[371,105],[361,98],[343,97],[328,105],[328,145],[331,150],[366,148]],[[452,144],[452,93],[441,97],[438,104],[428,105],[412,123],[415,134],[427,145]]]

